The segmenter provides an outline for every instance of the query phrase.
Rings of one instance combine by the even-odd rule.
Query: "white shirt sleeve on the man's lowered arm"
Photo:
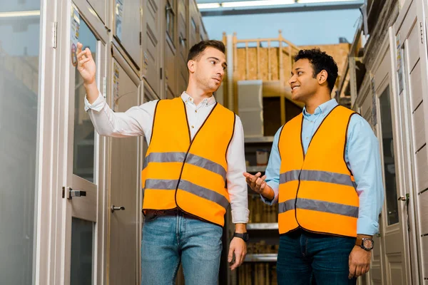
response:
[[[248,223],[250,211],[248,210],[248,188],[245,182],[245,150],[244,131],[240,118],[236,116],[235,132],[230,141],[226,158],[228,160],[228,192],[230,208],[232,210],[232,222],[234,224]]]

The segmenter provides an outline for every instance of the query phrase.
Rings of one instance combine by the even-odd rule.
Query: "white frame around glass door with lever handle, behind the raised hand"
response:
[[[93,13],[90,4],[85,0],[73,0],[73,4],[78,8],[81,21],[85,21],[88,28],[97,38],[97,53],[96,53],[96,82],[98,90],[101,94],[106,95],[105,75],[107,68],[107,54],[109,48],[108,31],[103,24],[103,21]],[[56,82],[58,88],[56,94],[58,97],[58,184],[60,187],[70,186],[73,176],[73,122],[74,117],[74,98],[70,98],[70,94],[74,94],[74,82],[71,78],[71,1],[61,1],[58,5],[58,72],[56,74]],[[96,227],[93,232],[93,281],[94,284],[104,284],[106,276],[106,212],[108,211],[108,196],[106,192],[106,156],[108,142],[106,138],[100,138],[95,132],[95,161],[94,161],[94,182],[96,187],[95,203],[96,210],[94,212],[96,218]],[[64,197],[58,195],[58,205],[56,207],[56,254],[54,254],[54,278],[51,283],[46,284],[63,284],[68,285],[70,282],[70,258],[71,258],[71,202]],[[73,198],[71,201],[73,201]],[[77,199],[85,199],[78,197]],[[106,207],[107,206],[107,207]]]

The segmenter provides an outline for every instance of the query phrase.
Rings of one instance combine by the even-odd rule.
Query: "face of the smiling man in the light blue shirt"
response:
[[[317,78],[313,78],[314,68],[307,58],[302,58],[294,63],[291,78],[288,81],[291,87],[292,100],[305,102],[317,92]]]

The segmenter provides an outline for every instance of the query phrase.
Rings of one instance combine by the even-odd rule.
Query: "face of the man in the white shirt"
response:
[[[215,92],[223,81],[226,56],[217,48],[208,46],[200,54],[199,59],[193,61],[193,71],[198,87],[205,92]]]

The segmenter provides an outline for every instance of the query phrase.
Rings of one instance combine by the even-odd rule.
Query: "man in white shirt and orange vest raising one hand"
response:
[[[190,48],[189,83],[180,98],[153,100],[114,113],[96,87],[91,51],[78,43],[78,71],[86,89],[85,110],[100,135],[144,135],[149,145],[142,172],[142,284],[173,284],[183,264],[186,284],[217,284],[224,214],[235,224],[228,261],[245,259],[248,193],[243,126],[216,103],[226,68],[225,46],[201,41]],[[154,131],[156,130],[156,131]]]

